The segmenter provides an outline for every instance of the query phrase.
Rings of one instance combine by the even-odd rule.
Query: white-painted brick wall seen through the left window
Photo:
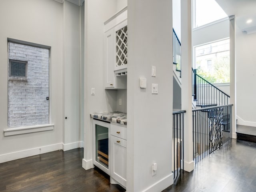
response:
[[[49,50],[9,42],[9,59],[28,62],[27,79],[8,80],[8,125],[49,123]]]

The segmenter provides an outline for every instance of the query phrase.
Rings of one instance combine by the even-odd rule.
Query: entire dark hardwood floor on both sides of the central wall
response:
[[[83,149],[0,164],[1,192],[124,192],[98,169],[82,168]],[[256,143],[232,140],[163,192],[256,192]]]

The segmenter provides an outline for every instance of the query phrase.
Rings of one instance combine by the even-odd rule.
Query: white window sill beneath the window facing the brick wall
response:
[[[26,133],[49,131],[49,130],[53,130],[53,128],[54,128],[54,124],[8,128],[8,129],[4,130],[4,136],[12,136],[12,135],[20,135],[20,134],[26,134]]]

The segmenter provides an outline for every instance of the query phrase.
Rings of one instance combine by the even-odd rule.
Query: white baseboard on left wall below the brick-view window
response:
[[[62,143],[2,154],[0,155],[0,163],[30,157],[38,154],[48,153],[56,150],[62,150]]]

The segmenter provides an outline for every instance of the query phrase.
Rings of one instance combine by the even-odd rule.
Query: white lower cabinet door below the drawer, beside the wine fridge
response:
[[[126,140],[111,135],[111,177],[126,187]]]

